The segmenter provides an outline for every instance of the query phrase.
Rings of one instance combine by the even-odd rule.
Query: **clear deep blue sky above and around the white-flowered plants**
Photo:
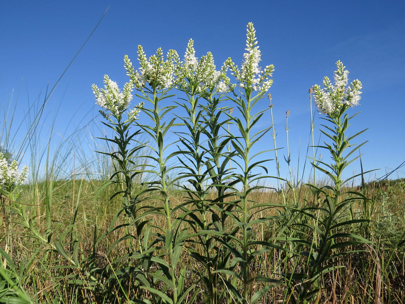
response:
[[[380,168],[371,175],[380,177],[405,161],[404,1],[3,1],[0,102],[3,107],[18,102],[15,120],[23,121],[29,104],[43,101],[47,84],[55,85],[108,6],[47,104],[42,120],[45,133],[52,122],[56,137],[66,137],[94,117],[97,122],[99,108],[91,84],[102,86],[103,75],[108,74],[122,87],[127,81],[124,55],[136,64],[137,45],[143,45],[147,55],[162,47],[176,49],[182,56],[192,38],[197,57],[211,51],[217,68],[228,57],[240,64],[246,25],[252,21],[261,65],[275,65],[269,92],[279,147],[286,147],[285,112],[290,111],[293,169],[298,155],[303,158],[307,149],[308,89],[322,84],[324,76],[333,77],[337,60],[350,71],[350,79],[363,83],[361,105],[352,109],[361,113],[350,130],[354,134],[369,128],[356,141],[369,140],[361,151],[364,170]],[[264,99],[262,107],[268,103]],[[318,117],[317,126],[322,123]],[[90,133],[102,136],[93,126]],[[85,145],[91,145],[88,136],[80,139]],[[272,148],[270,137],[262,145],[258,148]],[[286,149],[279,153],[282,158]],[[286,176],[282,159],[281,165]],[[268,167],[275,174],[274,163]],[[350,171],[359,173],[359,163]],[[403,177],[404,171],[401,168],[390,177]]]

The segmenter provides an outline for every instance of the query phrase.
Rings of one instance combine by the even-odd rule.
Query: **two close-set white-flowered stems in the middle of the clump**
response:
[[[188,178],[188,185],[183,185],[183,188],[188,194],[190,205],[194,206],[190,210],[188,206],[183,207],[188,214],[185,220],[195,231],[194,238],[191,239],[194,241],[190,242],[193,246],[188,251],[203,266],[198,269],[197,274],[205,283],[206,303],[213,304],[222,303],[227,295],[225,289],[220,290],[222,281],[216,271],[229,269],[231,255],[230,250],[221,248],[218,244],[218,235],[209,233],[215,229],[220,232],[226,230],[224,198],[231,195],[224,195],[225,180],[230,174],[226,167],[230,156],[223,152],[230,140],[223,133],[224,124],[230,119],[224,113],[226,107],[219,106],[221,100],[224,100],[224,93],[231,86],[226,69],[226,66],[222,66],[220,71],[216,70],[210,52],[198,60],[191,39],[184,60],[178,62],[177,69],[177,89],[186,95],[184,102],[177,104],[187,113],[187,116],[179,117],[187,130],[177,133],[184,150],[179,161],[183,164],[185,177]],[[217,196],[209,199],[213,190],[216,190]],[[220,216],[215,212],[217,210],[220,210]],[[236,233],[237,229],[234,231]],[[232,238],[227,241],[231,242]]]

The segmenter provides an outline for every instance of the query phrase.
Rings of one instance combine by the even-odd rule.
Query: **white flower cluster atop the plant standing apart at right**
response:
[[[330,82],[328,77],[324,77],[323,89],[317,84],[313,86],[313,97],[318,111],[332,118],[336,117],[342,107],[359,105],[360,94],[362,93],[360,92],[361,82],[358,79],[352,81],[350,86],[346,88],[349,71],[345,70],[345,66],[340,60],[336,62],[336,66],[334,84]]]

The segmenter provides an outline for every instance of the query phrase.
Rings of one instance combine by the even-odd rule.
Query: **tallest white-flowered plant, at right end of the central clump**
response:
[[[229,97],[242,116],[242,119],[238,116],[232,117],[234,124],[239,129],[240,136],[234,136],[229,134],[232,138],[232,146],[237,152],[237,158],[233,158],[234,163],[239,167],[241,173],[234,174],[234,180],[240,185],[239,187],[232,187],[233,191],[239,197],[239,200],[235,201],[236,212],[234,212],[235,224],[240,227],[241,239],[233,244],[233,253],[236,255],[236,259],[239,261],[240,272],[239,274],[233,273],[234,278],[239,278],[241,281],[241,292],[237,291],[234,284],[230,290],[233,293],[234,298],[240,303],[254,303],[259,300],[262,295],[269,291],[273,285],[269,283],[281,283],[278,280],[264,277],[260,274],[252,276],[252,267],[256,258],[268,250],[271,247],[277,247],[270,242],[260,242],[255,240],[252,234],[252,227],[255,224],[263,223],[265,220],[271,218],[260,218],[252,220],[256,212],[260,212],[261,208],[271,208],[271,204],[256,204],[250,197],[250,193],[258,188],[265,188],[264,186],[251,186],[252,182],[258,184],[258,181],[264,176],[258,174],[252,174],[252,171],[262,169],[266,171],[263,163],[269,161],[268,159],[256,161],[256,156],[268,152],[263,151],[255,155],[252,155],[252,148],[260,138],[265,135],[272,126],[268,126],[261,131],[255,131],[258,121],[264,114],[265,110],[254,113],[254,106],[262,99],[264,94],[269,90],[273,83],[272,73],[274,71],[273,65],[265,66],[262,70],[259,66],[261,61],[260,49],[256,41],[256,31],[252,23],[247,25],[247,41],[246,52],[243,54],[244,61],[239,68],[232,62],[230,58],[226,61],[226,65],[231,71],[231,74],[237,80],[240,90],[232,90],[234,97]],[[252,134],[253,133],[253,134]],[[236,160],[235,160],[236,159]],[[251,206],[249,206],[249,203]],[[230,246],[228,244],[228,246]],[[235,281],[235,280],[234,280]],[[262,288],[256,287],[256,282],[262,282]],[[266,283],[264,283],[266,282]]]

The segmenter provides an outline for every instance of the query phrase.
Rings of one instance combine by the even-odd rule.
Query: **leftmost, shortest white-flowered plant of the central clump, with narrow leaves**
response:
[[[133,97],[132,91],[134,89],[131,81],[125,83],[124,90],[121,91],[115,81],[109,79],[108,75],[104,75],[104,88],[99,89],[95,84],[92,85],[92,88],[97,104],[102,107],[100,114],[107,120],[107,122],[102,121],[102,123],[115,133],[113,138],[98,138],[113,143],[117,149],[113,152],[99,153],[109,155],[113,159],[114,165],[117,164],[117,169],[115,169],[115,172],[110,178],[111,184],[119,183],[122,185],[122,190],[116,192],[111,197],[113,198],[120,194],[122,194],[123,197],[124,206],[123,209],[118,212],[117,216],[124,211],[131,218],[126,218],[125,224],[122,225],[125,227],[128,237],[122,238],[121,241],[125,240],[128,248],[142,252],[142,229],[144,223],[138,218],[141,210],[138,206],[138,197],[142,197],[143,194],[150,191],[150,189],[139,186],[142,180],[142,169],[145,167],[144,163],[139,163],[139,159],[141,159],[139,154],[141,154],[144,146],[143,144],[139,144],[136,139],[137,135],[142,133],[142,130],[138,128],[135,132],[132,132],[131,128],[134,121],[138,119],[143,103],[129,109]],[[136,186],[134,186],[135,183]],[[117,216],[115,216],[112,221],[109,232],[115,230],[114,225]],[[109,232],[107,232],[107,234]],[[136,238],[136,244],[132,244],[135,239],[131,238],[133,233],[138,236],[138,238]],[[104,236],[105,235],[101,236],[98,241],[101,241]],[[112,248],[109,249],[109,251],[111,250]],[[135,263],[135,265],[138,266],[139,263]]]

